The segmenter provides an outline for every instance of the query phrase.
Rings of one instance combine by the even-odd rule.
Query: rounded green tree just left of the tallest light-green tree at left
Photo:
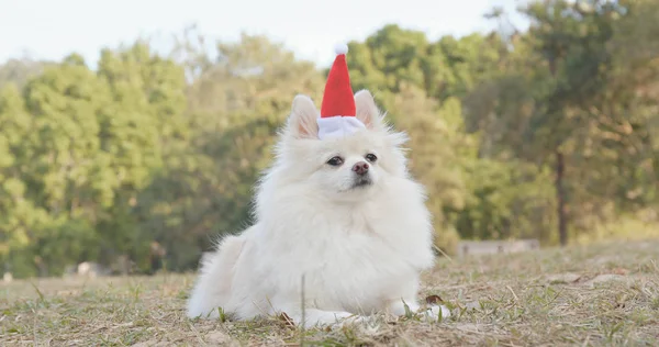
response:
[[[108,97],[107,86],[77,55],[25,87],[26,110],[33,116],[23,138],[25,197],[49,219],[30,238],[34,254],[55,272],[96,249],[93,225],[111,203],[113,180],[98,136],[98,116]]]

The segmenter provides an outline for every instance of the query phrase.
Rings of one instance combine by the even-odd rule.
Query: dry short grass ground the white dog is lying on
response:
[[[0,346],[655,346],[659,240],[442,259],[420,298],[440,323],[376,316],[301,332],[276,318],[189,320],[193,275],[40,279],[0,284]]]

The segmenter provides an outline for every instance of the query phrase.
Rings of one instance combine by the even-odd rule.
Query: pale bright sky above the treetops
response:
[[[327,66],[336,43],[364,40],[384,24],[421,30],[431,40],[461,36],[495,27],[483,18],[494,5],[513,13],[524,0],[316,1],[0,0],[0,63],[23,56],[58,60],[76,52],[93,66],[103,47],[147,36],[166,42],[197,24],[209,38],[226,42],[241,33],[264,34],[299,58]]]

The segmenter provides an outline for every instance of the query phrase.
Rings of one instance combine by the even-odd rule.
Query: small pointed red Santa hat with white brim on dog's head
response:
[[[338,44],[335,52],[336,58],[327,76],[321,117],[317,120],[319,138],[321,139],[342,137],[366,128],[364,123],[355,116],[355,97],[346,64],[348,46]]]

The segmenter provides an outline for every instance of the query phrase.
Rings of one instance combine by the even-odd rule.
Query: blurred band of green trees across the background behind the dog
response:
[[[659,2],[520,11],[528,31],[433,42],[386,25],[349,43],[354,89],[412,135],[437,247],[659,234]],[[0,66],[5,270],[56,276],[94,260],[153,272],[157,253],[185,271],[250,222],[292,98],[320,105],[327,71],[267,37],[216,52],[205,41],[191,29],[166,56],[136,41],[104,49],[96,69],[76,54]]]

